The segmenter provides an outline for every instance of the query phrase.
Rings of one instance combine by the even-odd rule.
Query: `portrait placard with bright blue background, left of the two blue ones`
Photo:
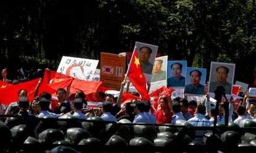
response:
[[[184,88],[187,60],[169,60],[167,65],[168,88]]]

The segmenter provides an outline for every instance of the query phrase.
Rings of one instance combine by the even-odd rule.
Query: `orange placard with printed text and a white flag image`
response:
[[[126,56],[101,52],[100,81],[103,86],[119,90],[126,73]]]

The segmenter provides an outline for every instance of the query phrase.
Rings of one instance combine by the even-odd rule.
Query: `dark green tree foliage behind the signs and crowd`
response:
[[[235,63],[235,80],[252,85],[255,9],[255,0],[1,1],[0,65],[56,70],[62,56],[100,59],[140,41],[188,67]]]

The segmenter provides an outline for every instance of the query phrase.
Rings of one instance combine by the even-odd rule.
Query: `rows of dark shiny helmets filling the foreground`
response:
[[[256,151],[255,125],[210,127],[104,122],[100,117],[38,119],[0,115],[0,152],[249,152]],[[203,133],[200,141],[197,133]]]

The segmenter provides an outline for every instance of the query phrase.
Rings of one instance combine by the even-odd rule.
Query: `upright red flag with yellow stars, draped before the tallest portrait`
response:
[[[132,85],[134,85],[134,87],[142,96],[142,100],[150,101],[150,97],[148,96],[148,91],[146,87],[147,81],[142,72],[142,68],[140,67],[140,61],[136,46],[134,48],[133,56],[130,60],[129,66],[130,67],[127,73],[129,80],[132,82]]]

